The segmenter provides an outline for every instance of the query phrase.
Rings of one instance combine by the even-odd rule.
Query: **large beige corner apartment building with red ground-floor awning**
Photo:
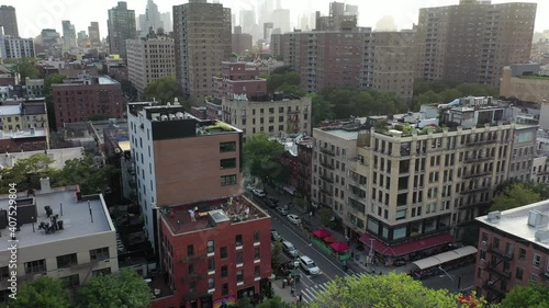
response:
[[[327,206],[350,236],[360,237],[389,262],[451,242],[474,217],[485,214],[497,184],[509,178],[529,180],[537,126],[509,123],[505,107],[485,98],[441,107],[440,123],[447,127],[424,128],[429,121],[423,119],[413,124],[417,126],[399,124],[386,130],[351,124],[313,133],[321,148],[332,142],[322,144],[326,138],[317,136],[357,135],[356,156],[346,163],[348,185],[321,186],[313,171],[313,199],[324,198],[318,197],[323,193],[334,198],[332,190],[344,189],[347,203]],[[329,156],[313,159],[318,174],[329,172],[330,164],[326,169],[321,163],[326,164]]]

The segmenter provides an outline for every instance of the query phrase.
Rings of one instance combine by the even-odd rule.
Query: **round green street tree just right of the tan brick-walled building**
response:
[[[270,140],[265,134],[246,138],[244,144],[244,159],[251,175],[266,181],[267,178],[277,178],[282,172],[278,159],[284,153],[284,146]]]

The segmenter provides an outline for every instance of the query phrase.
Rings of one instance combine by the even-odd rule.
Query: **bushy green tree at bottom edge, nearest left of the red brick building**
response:
[[[145,308],[150,298],[147,283],[135,271],[123,270],[91,277],[80,289],[78,304],[82,308]]]

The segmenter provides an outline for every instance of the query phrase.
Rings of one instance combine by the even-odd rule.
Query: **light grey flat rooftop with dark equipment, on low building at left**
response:
[[[27,192],[19,192],[16,202],[20,231],[15,233],[19,248],[114,231],[102,195],[85,196],[81,199],[78,199],[77,195],[80,195],[78,186],[53,189],[51,192],[35,191],[30,196]],[[0,196],[1,217],[7,215],[8,202],[8,195]],[[57,221],[63,220],[61,230],[49,231],[46,235],[45,230],[40,228],[41,223],[53,226],[53,218],[47,217],[45,206],[52,208],[53,217],[58,215]],[[0,226],[5,224],[7,218],[2,220]],[[0,231],[4,238],[0,241],[0,251],[2,251],[11,244],[8,242],[10,231],[5,228]]]

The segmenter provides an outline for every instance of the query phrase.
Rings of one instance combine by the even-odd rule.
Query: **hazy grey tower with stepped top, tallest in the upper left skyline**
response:
[[[109,31],[109,48],[111,54],[126,57],[126,39],[135,38],[135,11],[127,9],[127,3],[120,1],[117,7],[109,10],[107,21]]]

